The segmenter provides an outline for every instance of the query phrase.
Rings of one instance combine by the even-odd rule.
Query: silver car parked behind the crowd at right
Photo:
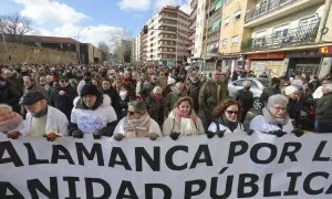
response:
[[[235,93],[239,90],[242,90],[242,83],[245,81],[250,81],[251,82],[251,87],[250,91],[253,94],[253,108],[255,109],[261,109],[262,104],[259,102],[259,97],[266,86],[269,85],[269,80],[268,78],[255,78],[255,77],[245,77],[245,78],[239,78],[234,82],[228,83],[228,91],[229,91],[229,96],[234,97]]]

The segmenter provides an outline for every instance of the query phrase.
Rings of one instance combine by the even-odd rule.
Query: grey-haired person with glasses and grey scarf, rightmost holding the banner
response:
[[[291,133],[293,126],[287,113],[289,100],[284,95],[272,95],[268,100],[267,106],[262,109],[262,115],[257,115],[250,123],[250,129],[278,137],[286,133]]]

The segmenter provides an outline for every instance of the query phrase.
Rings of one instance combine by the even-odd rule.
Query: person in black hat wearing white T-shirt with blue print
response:
[[[74,101],[70,135],[82,138],[84,134],[93,134],[95,139],[112,136],[116,123],[117,116],[111,106],[111,98],[103,95],[93,84],[86,83],[80,97]]]

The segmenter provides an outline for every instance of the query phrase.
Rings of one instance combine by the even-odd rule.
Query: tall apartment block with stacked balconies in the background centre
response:
[[[147,34],[141,34],[141,61],[162,61],[172,65],[186,61],[188,46],[189,15],[179,7],[160,9],[146,23]]]

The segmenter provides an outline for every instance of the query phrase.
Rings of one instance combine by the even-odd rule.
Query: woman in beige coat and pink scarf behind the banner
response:
[[[163,125],[163,135],[177,139],[178,136],[205,134],[201,121],[193,108],[191,97],[180,97]]]

